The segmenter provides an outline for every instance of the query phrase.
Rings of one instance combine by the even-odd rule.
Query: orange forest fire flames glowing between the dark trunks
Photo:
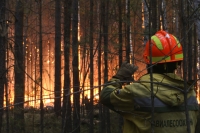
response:
[[[142,8],[142,11],[144,11],[144,9]],[[143,14],[144,15],[144,14]],[[142,21],[144,21],[144,16],[142,17]],[[46,23],[46,21],[45,21]],[[78,23],[78,41],[81,41],[81,37],[84,37],[83,31],[81,31],[81,27],[80,27],[80,22]],[[142,29],[144,28],[144,24],[141,25]],[[45,29],[46,30],[46,29]],[[9,29],[9,36],[13,36],[14,35],[14,31],[12,28]],[[35,33],[32,33],[33,35]],[[55,84],[55,79],[54,79],[54,67],[55,67],[55,46],[54,46],[54,39],[53,37],[49,37],[49,35],[43,35],[43,39],[46,40],[44,41],[44,49],[43,49],[43,77],[42,79],[44,80],[42,83],[42,88],[44,88],[42,90],[42,98],[43,98],[43,102],[44,102],[44,106],[54,106],[54,84]],[[53,36],[53,35],[52,35]],[[143,36],[142,36],[143,37]],[[130,38],[134,38],[131,37]],[[138,37],[140,38],[140,37]],[[135,41],[137,41],[137,38]],[[117,39],[116,39],[117,40]],[[131,40],[131,39],[130,39]],[[140,40],[140,39],[139,39]],[[40,106],[40,75],[39,75],[39,47],[37,44],[37,39],[34,40],[32,38],[32,40],[30,38],[26,38],[25,41],[23,42],[23,45],[25,47],[25,94],[24,94],[24,106],[31,106],[31,107],[35,107],[35,108],[39,108]],[[131,42],[133,43],[133,42]],[[140,42],[141,43],[141,42]],[[14,44],[12,44],[14,47]],[[61,52],[64,52],[64,42],[61,42]],[[95,47],[98,46],[97,41],[94,41],[94,45]],[[135,45],[135,44],[133,44]],[[116,53],[116,51],[114,50],[116,46],[111,46],[110,47],[110,51],[111,53]],[[133,50],[133,46],[130,45],[130,50],[131,52],[135,52]],[[102,58],[103,58],[103,51],[101,51]],[[85,97],[87,98],[91,98],[90,96],[90,89],[94,89],[94,99],[98,100],[98,92],[99,92],[99,86],[98,86],[98,75],[97,75],[97,69],[98,69],[98,54],[95,53],[94,54],[94,88],[90,88],[90,83],[89,83],[89,50],[88,48],[82,48],[79,45],[79,70],[80,70],[80,99],[84,99]],[[71,51],[70,51],[71,54]],[[5,98],[4,99],[8,99],[7,101],[4,101],[4,106],[6,105],[13,105],[14,104],[14,68],[11,67],[14,65],[14,55],[12,50],[8,50],[6,53],[6,60],[7,60],[7,64],[6,67],[9,68],[8,71],[8,85],[7,85],[7,91],[5,92]],[[72,55],[70,55],[70,62],[72,62]],[[123,55],[124,56],[124,55]],[[135,56],[135,55],[132,55]],[[139,52],[139,56],[141,56],[141,51]],[[62,58],[62,62],[61,62],[61,84],[62,84],[62,88],[61,91],[63,93],[63,86],[64,86],[64,55],[62,54],[61,56]],[[110,55],[110,60],[108,61],[108,69],[109,70],[113,70],[111,71],[111,73],[109,73],[109,77],[111,77],[111,75],[113,75],[113,73],[115,73],[114,70],[116,70],[116,66],[118,64],[118,57],[116,55]],[[139,57],[138,59],[140,59],[141,57]],[[141,61],[137,62],[137,63],[141,63]],[[101,71],[103,71],[102,68],[104,68],[104,63],[102,63],[101,66]],[[144,65],[144,64],[143,64]],[[72,75],[72,65],[70,64],[70,75]],[[103,76],[101,77],[101,84],[103,83]],[[136,76],[137,78],[140,77]],[[72,84],[72,83],[71,83]],[[101,85],[100,85],[101,86]],[[73,87],[71,88],[71,93],[72,93]],[[61,94],[62,94],[61,93]],[[200,103],[199,100],[199,89],[198,89],[198,102]],[[62,100],[62,95],[61,95],[61,100]],[[71,95],[71,101],[73,102],[73,95]],[[82,101],[82,100],[80,100]]]

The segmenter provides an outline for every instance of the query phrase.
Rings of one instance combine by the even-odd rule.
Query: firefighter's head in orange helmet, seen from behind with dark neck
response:
[[[153,65],[153,72],[171,73],[183,60],[182,46],[175,36],[160,30],[146,43],[143,57],[148,67]]]

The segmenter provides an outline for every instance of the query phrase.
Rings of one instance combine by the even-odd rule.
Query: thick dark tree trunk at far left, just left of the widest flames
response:
[[[14,97],[14,131],[24,130],[24,49],[23,49],[23,19],[24,5],[22,0],[16,1],[15,10],[15,97]]]

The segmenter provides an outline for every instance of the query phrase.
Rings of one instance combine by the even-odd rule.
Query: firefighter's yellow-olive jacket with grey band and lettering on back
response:
[[[152,129],[155,133],[187,133],[184,81],[167,73],[153,74],[152,83],[147,74],[122,88],[119,79],[112,78],[101,91],[100,102],[123,116],[124,133],[150,133]],[[153,102],[151,86],[155,96]],[[191,133],[195,133],[198,102],[192,84],[188,84],[187,89],[189,125]]]

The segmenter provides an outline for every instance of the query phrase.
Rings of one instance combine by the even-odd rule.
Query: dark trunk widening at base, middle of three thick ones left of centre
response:
[[[63,107],[62,107],[62,129],[63,133],[72,131],[71,119],[71,100],[70,100],[70,36],[71,36],[71,0],[64,1],[64,93],[63,93]]]

